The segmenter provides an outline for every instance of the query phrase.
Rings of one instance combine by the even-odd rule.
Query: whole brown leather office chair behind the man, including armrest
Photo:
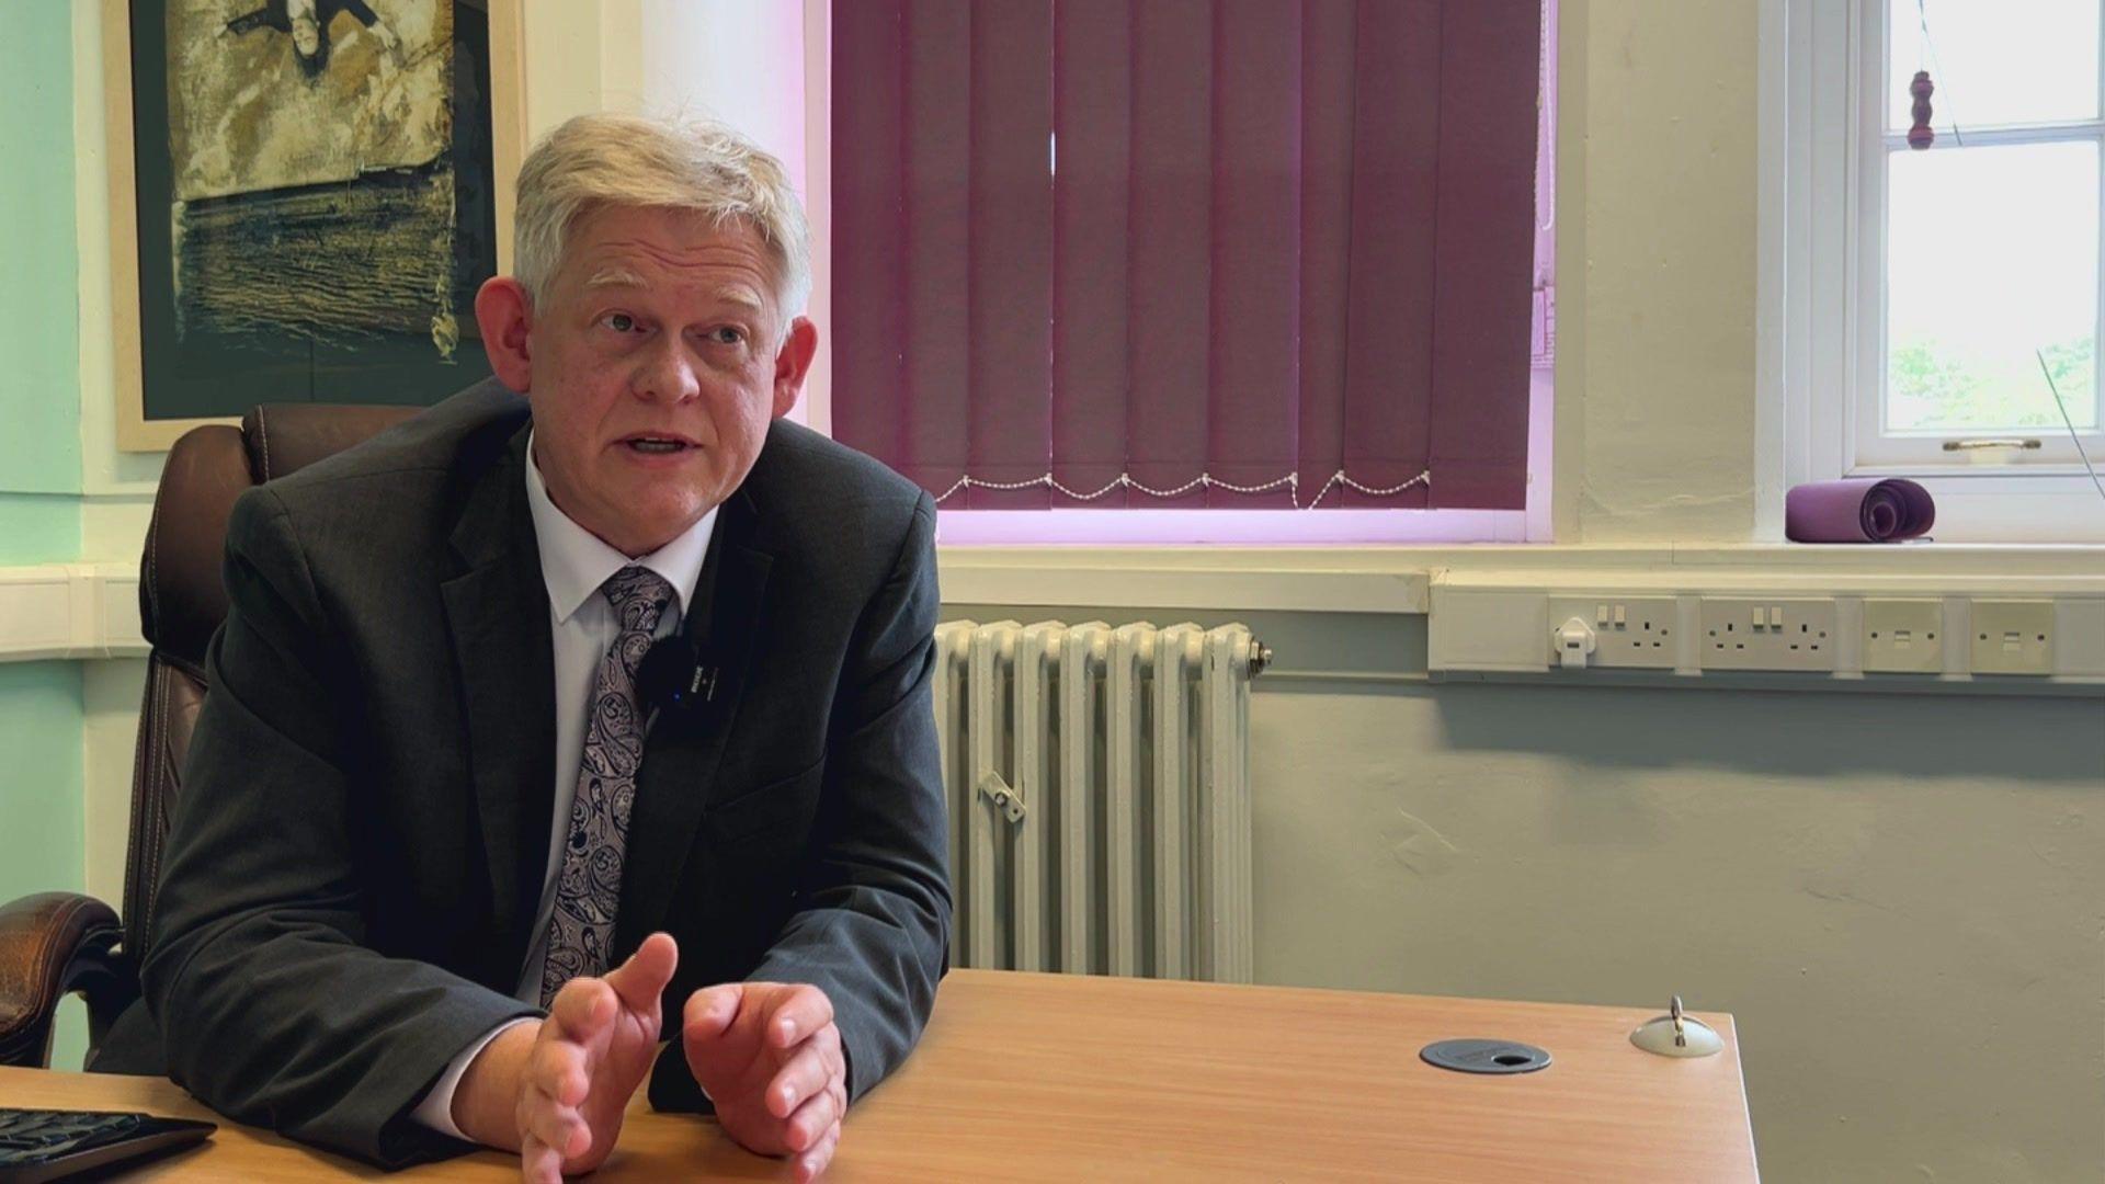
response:
[[[234,499],[413,413],[410,407],[257,407],[240,430],[194,428],[168,451],[139,563],[139,617],[152,653],[133,763],[124,916],[69,891],[0,906],[0,1064],[51,1064],[51,1020],[67,994],[86,996],[91,1043],[101,1043],[118,1011],[139,996],[137,959],[154,921],[160,853],[208,691],[204,647],[227,615],[219,565]]]

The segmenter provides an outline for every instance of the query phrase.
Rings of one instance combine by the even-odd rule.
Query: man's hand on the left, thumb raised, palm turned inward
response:
[[[606,978],[575,978],[547,1020],[501,1032],[461,1074],[453,1123],[520,1152],[520,1180],[560,1184],[615,1150],[629,1096],[659,1049],[659,996],[680,952],[653,933]]]

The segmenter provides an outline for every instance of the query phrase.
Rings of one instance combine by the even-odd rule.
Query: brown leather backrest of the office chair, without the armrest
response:
[[[124,855],[124,948],[135,959],[145,956],[168,817],[181,792],[189,733],[208,691],[204,649],[227,617],[221,560],[234,499],[415,413],[413,407],[257,407],[238,430],[208,423],[185,432],[168,449],[139,563],[139,619],[154,649],[139,710]]]

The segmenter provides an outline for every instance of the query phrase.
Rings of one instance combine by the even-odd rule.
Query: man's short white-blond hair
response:
[[[714,120],[577,116],[520,166],[512,274],[539,305],[577,219],[596,206],[680,209],[743,221],[775,255],[783,324],[810,299],[810,228],[783,162]]]

